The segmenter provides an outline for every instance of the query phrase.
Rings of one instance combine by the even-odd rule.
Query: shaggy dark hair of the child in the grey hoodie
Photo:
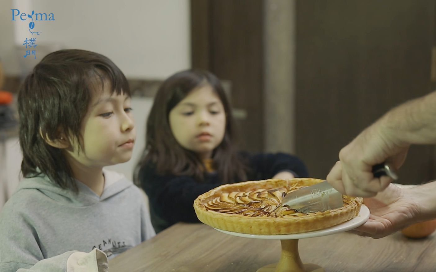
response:
[[[18,93],[21,171],[25,178],[44,174],[61,188],[78,191],[64,150],[46,140],[59,140],[63,134],[70,143],[77,141],[79,151],[83,151],[82,120],[92,95],[98,88],[102,91],[105,82],[112,94],[130,96],[123,72],[101,54],[59,50],[34,67]]]

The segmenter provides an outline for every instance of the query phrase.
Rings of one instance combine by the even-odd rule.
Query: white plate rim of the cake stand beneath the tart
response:
[[[222,229],[215,228],[219,232],[223,232],[228,235],[234,235],[238,237],[245,237],[245,238],[256,238],[256,239],[275,239],[275,240],[292,240],[292,239],[302,239],[302,238],[312,238],[312,237],[319,237],[319,236],[326,236],[330,234],[335,234],[339,232],[346,232],[353,228],[357,228],[360,225],[363,225],[364,222],[366,222],[369,218],[369,209],[367,206],[362,205],[360,208],[360,212],[358,216],[354,217],[351,220],[348,220],[347,222],[341,223],[339,225],[330,227],[330,228],[324,228],[318,231],[314,232],[303,232],[303,233],[295,233],[295,234],[280,234],[280,235],[254,235],[254,234],[246,234],[246,233],[239,233],[239,232],[229,232]]]

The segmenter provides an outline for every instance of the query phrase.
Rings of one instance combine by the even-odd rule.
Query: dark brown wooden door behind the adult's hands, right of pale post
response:
[[[431,91],[435,0],[298,0],[296,153],[325,178],[338,151],[386,111]],[[400,183],[435,178],[413,146]]]

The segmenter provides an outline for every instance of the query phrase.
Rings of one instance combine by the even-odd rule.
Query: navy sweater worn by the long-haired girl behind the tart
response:
[[[241,153],[241,156],[248,161],[247,180],[272,178],[286,170],[296,177],[307,177],[306,166],[293,155]],[[204,182],[198,182],[189,176],[157,175],[155,170],[151,163],[143,165],[139,180],[150,201],[151,222],[156,233],[177,222],[199,222],[193,207],[195,198],[222,184],[216,172],[206,173]]]

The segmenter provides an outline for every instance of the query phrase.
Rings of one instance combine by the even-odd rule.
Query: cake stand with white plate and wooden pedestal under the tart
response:
[[[362,205],[358,216],[347,222],[314,232],[296,234],[254,235],[239,232],[229,232],[218,228],[215,229],[219,232],[224,232],[228,235],[234,235],[238,237],[280,240],[282,243],[282,255],[280,256],[279,262],[266,265],[258,269],[256,272],[325,272],[325,270],[318,265],[303,264],[303,262],[301,262],[300,255],[298,253],[298,239],[326,236],[349,231],[353,228],[363,225],[364,222],[368,220],[369,213],[368,207]]]

